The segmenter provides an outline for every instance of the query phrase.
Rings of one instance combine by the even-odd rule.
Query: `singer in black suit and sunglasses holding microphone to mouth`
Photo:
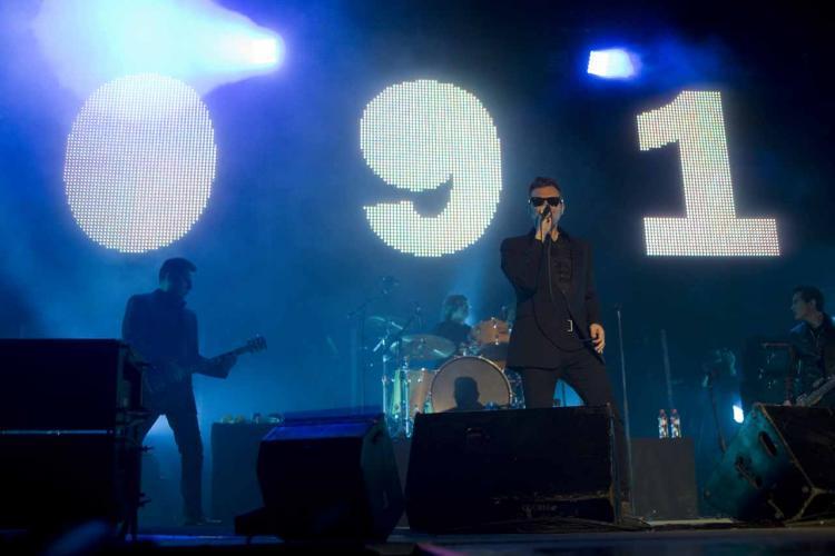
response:
[[[586,405],[611,406],[626,494],[626,440],[603,364],[606,331],[600,324],[591,249],[558,226],[566,201],[557,181],[537,178],[528,192],[533,229],[501,246],[502,270],[517,294],[508,367],[522,377],[525,407],[551,407],[560,378]]]

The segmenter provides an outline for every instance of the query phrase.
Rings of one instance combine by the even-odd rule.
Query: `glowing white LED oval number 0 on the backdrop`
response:
[[[212,119],[197,92],[169,77],[116,79],[87,99],[67,141],[72,216],[98,244],[145,252],[181,238],[215,179]]]

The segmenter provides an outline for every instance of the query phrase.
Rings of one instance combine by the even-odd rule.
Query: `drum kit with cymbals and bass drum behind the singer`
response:
[[[392,436],[412,436],[418,413],[523,407],[521,383],[505,369],[511,328],[490,318],[475,325],[470,341],[455,346],[430,334],[403,335],[403,321],[371,317],[394,331],[384,349],[383,407]],[[394,361],[389,370],[387,361]]]

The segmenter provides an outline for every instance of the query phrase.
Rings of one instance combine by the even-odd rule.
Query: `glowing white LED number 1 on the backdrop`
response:
[[[641,150],[678,142],[686,218],[645,218],[647,255],[779,255],[777,222],[737,218],[730,180],[721,96],[684,91],[676,100],[638,116]]]

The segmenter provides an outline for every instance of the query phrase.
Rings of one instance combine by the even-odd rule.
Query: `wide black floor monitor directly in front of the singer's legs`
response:
[[[419,414],[406,514],[430,533],[611,523],[616,484],[607,407]]]

